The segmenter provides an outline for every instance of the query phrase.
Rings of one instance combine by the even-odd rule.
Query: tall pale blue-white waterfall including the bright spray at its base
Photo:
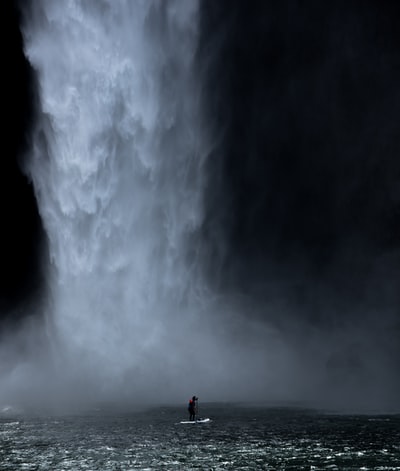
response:
[[[254,398],[281,374],[279,338],[202,276],[198,15],[195,0],[32,2],[26,172],[49,239],[52,350],[14,389],[29,376],[56,401]]]

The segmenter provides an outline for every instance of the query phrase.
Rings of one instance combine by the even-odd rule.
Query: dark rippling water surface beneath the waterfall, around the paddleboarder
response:
[[[203,405],[0,414],[0,470],[400,470],[400,415]]]

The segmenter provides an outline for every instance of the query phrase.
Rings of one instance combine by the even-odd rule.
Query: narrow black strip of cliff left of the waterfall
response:
[[[33,187],[20,162],[29,149],[34,74],[23,53],[18,3],[1,3],[0,317],[24,315],[44,286],[44,233]]]

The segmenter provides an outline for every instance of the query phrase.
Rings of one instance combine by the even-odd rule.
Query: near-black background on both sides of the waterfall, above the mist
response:
[[[398,329],[399,3],[200,6],[197,64],[214,144],[208,278],[221,291],[285,298],[316,323],[326,305],[334,316],[382,308]],[[10,320],[43,294],[45,234],[18,165],[37,88],[17,3],[2,2],[1,18],[0,314]]]

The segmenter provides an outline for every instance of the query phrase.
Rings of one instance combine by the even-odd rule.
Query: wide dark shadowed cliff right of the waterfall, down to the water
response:
[[[319,398],[396,404],[400,4],[227,4],[201,2],[209,279]]]

